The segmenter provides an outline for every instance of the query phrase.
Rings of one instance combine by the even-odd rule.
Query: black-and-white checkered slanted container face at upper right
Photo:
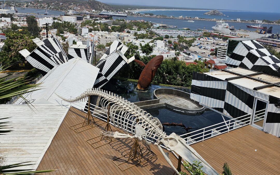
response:
[[[239,42],[226,64],[280,77],[280,60],[255,40]]]

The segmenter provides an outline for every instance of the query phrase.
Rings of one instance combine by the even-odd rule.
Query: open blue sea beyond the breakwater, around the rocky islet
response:
[[[231,11],[231,10],[221,10],[225,16],[215,16],[215,15],[203,15],[203,13],[209,10],[147,10],[147,11],[138,11],[139,13],[153,13],[154,15],[166,15],[166,16],[174,16],[174,17],[199,17],[199,18],[207,18],[207,19],[226,19],[236,20],[240,18],[241,20],[280,20],[280,13],[273,12],[258,12],[258,11]]]

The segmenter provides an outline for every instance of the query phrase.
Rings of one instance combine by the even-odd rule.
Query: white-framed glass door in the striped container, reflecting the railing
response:
[[[256,98],[251,124],[257,128],[263,129],[264,120],[267,113],[267,105],[268,105],[267,101]]]

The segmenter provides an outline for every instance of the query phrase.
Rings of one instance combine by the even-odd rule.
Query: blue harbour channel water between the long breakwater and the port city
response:
[[[189,28],[191,30],[197,30],[197,29],[206,29],[206,30],[213,30],[211,27],[216,25],[215,21],[202,21],[202,20],[194,20],[194,22],[187,22],[185,19],[169,19],[169,18],[150,18],[150,17],[113,17],[113,19],[126,19],[126,20],[141,20],[143,19],[144,21],[148,22],[154,22],[154,23],[159,23],[159,24],[167,24],[167,25],[176,25],[177,29],[182,29],[182,28]],[[246,29],[246,30],[251,30],[254,31],[256,29],[249,29],[246,28],[246,25],[252,25],[253,23],[239,23],[239,22],[228,22],[228,25],[232,26],[234,25],[235,29]],[[272,26],[272,32],[273,33],[280,33],[280,25],[263,25],[270,27]]]

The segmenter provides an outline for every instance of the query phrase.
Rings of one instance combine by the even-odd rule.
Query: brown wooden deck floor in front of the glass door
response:
[[[280,172],[280,138],[250,125],[191,146],[219,173],[225,162],[234,175]]]

